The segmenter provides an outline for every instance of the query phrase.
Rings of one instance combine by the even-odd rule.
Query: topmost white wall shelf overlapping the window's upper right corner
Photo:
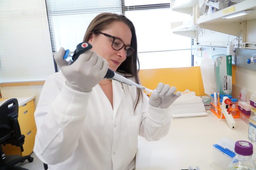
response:
[[[198,4],[197,0],[176,0],[171,1],[172,11],[193,15],[193,7]]]

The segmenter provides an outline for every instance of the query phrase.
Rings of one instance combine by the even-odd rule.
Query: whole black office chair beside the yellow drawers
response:
[[[24,151],[22,145],[24,144],[25,136],[21,135],[20,132],[18,110],[19,105],[17,99],[9,99],[0,106],[0,170],[28,170],[15,165],[26,159],[28,159],[29,162],[33,162],[34,159],[28,155],[14,159],[10,162],[6,162],[5,160],[1,144],[12,144],[19,146],[21,152]]]

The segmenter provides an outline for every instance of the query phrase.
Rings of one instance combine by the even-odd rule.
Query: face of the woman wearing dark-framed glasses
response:
[[[132,32],[124,22],[114,21],[100,32],[109,34],[122,40],[124,45],[131,45]],[[98,55],[107,60],[108,67],[111,70],[116,71],[116,69],[126,59],[124,47],[119,51],[114,50],[111,46],[113,38],[105,36],[101,33],[98,33],[97,35],[93,33],[90,37],[88,42],[92,45],[91,50],[95,51]]]

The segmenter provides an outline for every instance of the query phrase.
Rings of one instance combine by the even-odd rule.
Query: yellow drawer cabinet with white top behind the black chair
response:
[[[24,151],[21,152],[20,147],[13,146],[11,144],[6,144],[5,146],[2,145],[3,151],[5,155],[29,155],[33,152],[36,137],[36,122],[34,117],[34,99],[36,97],[9,97],[0,101],[0,106],[11,98],[16,98],[19,104],[18,121],[20,124],[21,134],[25,135],[25,142],[23,144]]]

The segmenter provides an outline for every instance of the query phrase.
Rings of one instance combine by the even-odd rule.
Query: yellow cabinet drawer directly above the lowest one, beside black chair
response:
[[[34,112],[35,107],[33,106],[19,114],[18,121],[20,124],[21,134],[27,134],[29,130],[33,129],[36,126]]]

